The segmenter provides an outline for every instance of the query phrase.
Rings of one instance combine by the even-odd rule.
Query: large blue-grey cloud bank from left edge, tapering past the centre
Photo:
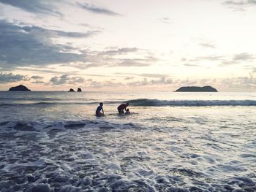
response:
[[[0,66],[3,69],[39,66],[39,70],[49,72],[49,69],[42,69],[42,66],[63,64],[88,69],[100,66],[150,66],[158,61],[151,53],[137,47],[115,47],[102,51],[81,50],[80,53],[74,53],[76,47],[57,45],[53,42],[53,39],[58,37],[91,37],[99,31],[67,32],[38,26],[20,26],[5,20],[0,20],[0,28]],[[136,53],[139,57],[131,58],[130,53]],[[118,55],[124,57],[120,58]]]

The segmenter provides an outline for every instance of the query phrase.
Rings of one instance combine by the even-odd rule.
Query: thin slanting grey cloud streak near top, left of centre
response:
[[[94,6],[92,4],[87,4],[87,3],[80,4],[80,3],[78,3],[78,6],[82,9],[86,9],[87,11],[93,12],[95,14],[110,15],[110,16],[121,16],[121,14],[119,14],[117,12],[113,12],[110,9],[106,9],[106,8],[103,8],[103,7],[97,7],[97,6]]]

